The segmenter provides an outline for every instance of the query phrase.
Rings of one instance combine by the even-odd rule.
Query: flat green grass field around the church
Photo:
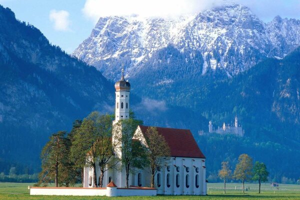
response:
[[[30,196],[28,185],[32,183],[0,182],[0,200],[2,199],[300,199],[300,185],[279,184],[279,189],[270,188],[269,184],[262,184],[262,193],[258,194],[257,184],[245,184],[250,190],[241,193],[240,183],[228,183],[227,192],[223,194],[222,183],[208,183],[206,196],[134,196],[134,197],[102,197],[102,196]],[[235,189],[236,186],[236,189]]]

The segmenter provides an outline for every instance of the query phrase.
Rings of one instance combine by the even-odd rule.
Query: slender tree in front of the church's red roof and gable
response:
[[[148,127],[145,133],[147,169],[151,173],[151,187],[154,187],[154,177],[157,171],[169,160],[170,148],[156,127]]]

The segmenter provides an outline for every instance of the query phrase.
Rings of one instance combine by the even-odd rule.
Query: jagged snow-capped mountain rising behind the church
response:
[[[201,74],[221,69],[232,76],[266,57],[282,58],[298,46],[299,24],[278,16],[266,24],[235,3],[177,18],[101,17],[73,56],[115,80],[121,62],[132,77],[153,53],[171,45],[187,53],[185,59],[200,53]]]

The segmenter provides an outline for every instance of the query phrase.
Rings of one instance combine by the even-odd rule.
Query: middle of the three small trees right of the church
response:
[[[234,178],[242,181],[242,193],[244,192],[244,182],[251,178],[252,158],[247,154],[241,154],[238,157],[238,163],[235,165]]]

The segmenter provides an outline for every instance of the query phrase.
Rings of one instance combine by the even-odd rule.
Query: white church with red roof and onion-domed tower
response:
[[[121,79],[115,87],[115,124],[120,119],[129,118],[129,94],[130,83],[124,79],[123,69]],[[140,141],[145,141],[144,135],[148,126],[139,125],[135,131]],[[163,135],[170,149],[170,158],[165,166],[155,174],[155,187],[157,194],[174,195],[206,195],[205,180],[205,156],[198,147],[192,133],[188,129],[156,127],[159,134]],[[113,131],[112,134],[118,134]],[[113,137],[113,135],[112,135]],[[116,153],[115,156],[118,156]],[[99,167],[96,167],[99,176]],[[111,181],[117,187],[125,187],[125,171],[109,169],[104,172],[103,185]],[[84,168],[83,187],[93,187],[93,169]],[[96,178],[97,181],[99,177]],[[130,187],[148,187],[150,185],[150,173],[142,169],[136,169],[129,175]]]

